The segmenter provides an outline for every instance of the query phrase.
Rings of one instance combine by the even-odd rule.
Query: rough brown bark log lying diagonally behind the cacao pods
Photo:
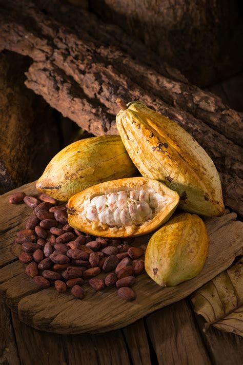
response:
[[[54,0],[0,4],[0,49],[32,58],[29,88],[94,135],[117,133],[116,97],[156,108],[206,149],[220,172],[226,205],[243,213],[242,113],[90,12]]]

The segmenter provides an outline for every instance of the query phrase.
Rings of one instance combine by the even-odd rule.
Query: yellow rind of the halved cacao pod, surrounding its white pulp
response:
[[[151,220],[144,222],[143,225],[110,227],[107,224],[104,224],[100,226],[95,222],[87,222],[86,219],[82,218],[82,213],[84,212],[82,204],[84,204],[87,199],[92,199],[97,195],[108,194],[109,192],[115,193],[120,190],[130,191],[144,186],[153,188],[157,193],[165,196],[168,199],[168,202],[163,209],[159,210]],[[178,203],[178,194],[163,183],[143,177],[118,179],[91,186],[72,197],[68,202],[68,223],[72,227],[94,236],[135,237],[150,233],[161,226],[161,224],[165,223],[174,213]]]

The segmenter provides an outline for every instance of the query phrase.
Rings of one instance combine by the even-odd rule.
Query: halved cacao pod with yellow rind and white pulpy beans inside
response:
[[[143,177],[94,185],[68,202],[69,224],[94,236],[145,235],[166,222],[179,202],[166,185]]]

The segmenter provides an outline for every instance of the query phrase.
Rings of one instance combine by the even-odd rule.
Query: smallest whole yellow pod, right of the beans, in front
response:
[[[151,237],[145,254],[145,270],[161,286],[177,285],[200,273],[208,245],[202,219],[195,214],[179,214]]]

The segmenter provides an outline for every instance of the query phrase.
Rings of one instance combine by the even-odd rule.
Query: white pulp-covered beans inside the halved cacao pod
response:
[[[154,217],[165,200],[151,188],[98,195],[84,202],[82,218],[110,227],[141,225]]]

